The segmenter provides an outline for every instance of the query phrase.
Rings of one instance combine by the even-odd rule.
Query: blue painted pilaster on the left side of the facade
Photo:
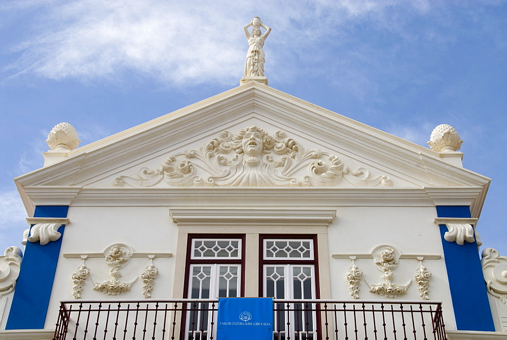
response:
[[[67,217],[67,210],[68,206],[37,206],[33,217]],[[61,225],[62,237],[44,246],[26,242],[6,329],[44,328],[63,231]]]

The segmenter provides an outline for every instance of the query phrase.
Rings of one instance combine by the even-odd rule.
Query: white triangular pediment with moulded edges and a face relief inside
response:
[[[252,145],[243,142],[245,134]],[[485,186],[489,179],[428,148],[251,82],[73,150],[16,181],[111,188],[446,187]]]

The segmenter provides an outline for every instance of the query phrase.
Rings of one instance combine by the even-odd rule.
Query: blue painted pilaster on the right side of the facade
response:
[[[437,207],[438,217],[470,217],[468,206]],[[444,239],[447,226],[440,225],[447,276],[451,289],[454,317],[458,330],[494,331],[491,308],[486,292],[477,243],[456,242]]]

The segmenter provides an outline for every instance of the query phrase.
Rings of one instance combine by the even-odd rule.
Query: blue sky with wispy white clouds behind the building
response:
[[[81,145],[236,87],[260,16],[273,88],[408,139],[459,132],[491,177],[478,223],[507,255],[507,1],[0,0],[0,248],[20,246],[13,178],[43,165],[51,128]]]

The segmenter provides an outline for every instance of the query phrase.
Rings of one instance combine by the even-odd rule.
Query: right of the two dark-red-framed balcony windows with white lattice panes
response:
[[[261,282],[262,296],[277,299],[315,299],[318,296],[317,259],[315,236],[261,236],[262,256]],[[290,304],[290,320],[285,320],[286,313],[274,317],[274,339],[283,340],[291,336],[297,338],[316,338],[314,313],[303,312],[302,304]],[[286,308],[285,304],[277,304],[277,309]],[[298,311],[299,310],[299,311]],[[287,324],[289,325],[287,327]],[[278,337],[278,334],[280,336]]]

